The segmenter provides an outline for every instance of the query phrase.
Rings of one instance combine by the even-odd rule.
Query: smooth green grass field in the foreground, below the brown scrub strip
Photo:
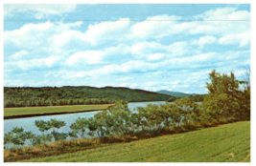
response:
[[[250,162],[250,121],[25,162]]]

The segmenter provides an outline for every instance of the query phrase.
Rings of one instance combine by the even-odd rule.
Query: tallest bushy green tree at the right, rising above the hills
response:
[[[204,96],[202,102],[205,116],[217,120],[221,118],[245,118],[244,111],[248,112],[248,110],[244,110],[247,105],[244,101],[246,92],[239,89],[239,85],[243,81],[236,80],[232,72],[221,74],[213,70],[209,76],[211,82],[206,83],[209,93]]]

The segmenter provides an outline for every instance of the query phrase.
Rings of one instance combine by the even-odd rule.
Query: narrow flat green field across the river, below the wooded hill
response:
[[[27,115],[27,114],[54,114],[62,112],[80,112],[91,110],[104,110],[111,104],[99,105],[74,105],[74,106],[49,106],[49,107],[20,107],[20,108],[5,108],[4,116],[12,115]]]

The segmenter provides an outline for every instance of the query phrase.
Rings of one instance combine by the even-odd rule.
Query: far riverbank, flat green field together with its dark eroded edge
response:
[[[105,111],[113,104],[5,108],[4,119]]]

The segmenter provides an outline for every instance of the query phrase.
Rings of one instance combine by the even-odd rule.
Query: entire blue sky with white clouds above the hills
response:
[[[4,86],[207,93],[250,65],[250,5],[4,5]]]

